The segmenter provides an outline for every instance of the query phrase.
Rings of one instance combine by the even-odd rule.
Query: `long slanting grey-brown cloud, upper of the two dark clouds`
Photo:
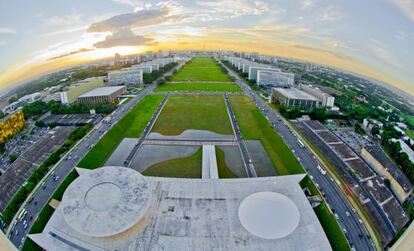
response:
[[[145,9],[93,23],[89,26],[88,32],[114,32],[123,28],[145,27],[181,19],[180,16],[170,15],[168,8]]]

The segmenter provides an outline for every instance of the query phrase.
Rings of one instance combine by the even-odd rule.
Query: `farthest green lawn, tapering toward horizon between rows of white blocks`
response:
[[[212,58],[193,58],[184,65],[171,81],[231,81]]]

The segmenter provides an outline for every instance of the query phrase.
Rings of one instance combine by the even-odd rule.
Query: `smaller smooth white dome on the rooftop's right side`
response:
[[[251,234],[263,239],[280,239],[290,235],[299,225],[296,204],[283,194],[254,193],[240,203],[239,219]]]

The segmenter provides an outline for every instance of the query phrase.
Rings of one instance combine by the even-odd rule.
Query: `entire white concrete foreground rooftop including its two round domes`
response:
[[[29,235],[47,250],[332,250],[299,186],[302,174],[178,179],[125,167],[78,171],[43,232]]]

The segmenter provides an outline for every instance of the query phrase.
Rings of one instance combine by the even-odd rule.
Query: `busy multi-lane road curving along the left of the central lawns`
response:
[[[181,67],[182,65],[183,64],[178,65],[174,69],[164,74],[164,76],[170,75],[175,69]],[[137,94],[137,96],[130,102],[116,109],[113,112],[112,119],[109,123],[104,121],[98,123],[92,132],[87,137],[82,139],[81,143],[76,148],[71,149],[71,153],[69,155],[71,157],[66,158],[59,163],[54,171],[54,175],[50,175],[46,178],[42,188],[35,192],[33,199],[25,206],[27,215],[21,220],[16,220],[15,225],[10,231],[9,239],[17,248],[21,248],[25,238],[27,237],[30,227],[34,222],[34,219],[36,219],[42,208],[49,201],[56,188],[60,185],[63,180],[62,177],[66,177],[66,175],[68,175],[69,172],[71,172],[76,167],[77,163],[89,152],[90,146],[95,145],[111,128],[112,125],[116,124],[120,118],[122,118],[130,109],[132,109],[132,107],[138,103],[138,101],[140,101],[147,94],[152,93],[159,80],[155,81],[153,84],[142,90],[142,92]],[[56,179],[55,177],[60,178]],[[29,220],[30,216],[32,216],[32,220]],[[24,221],[27,222],[26,228],[24,228],[23,225]],[[12,222],[12,224],[14,223]]]

